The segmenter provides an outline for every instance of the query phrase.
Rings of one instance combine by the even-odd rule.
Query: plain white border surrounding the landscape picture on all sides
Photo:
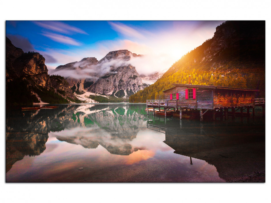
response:
[[[88,3],[86,3],[88,2]],[[266,20],[266,56],[270,56],[270,3],[228,1],[1,1],[1,91],[5,92],[5,20]],[[96,28],[98,29],[98,28]],[[266,57],[266,76],[270,75]],[[270,80],[266,79],[266,90]],[[269,103],[270,94],[266,92]],[[2,98],[2,109],[5,109]],[[266,107],[266,123],[270,121]],[[270,149],[266,150],[266,183],[5,183],[5,114],[1,116],[1,198],[3,202],[268,202]],[[269,128],[266,145],[270,144]],[[269,147],[270,148],[270,147]]]

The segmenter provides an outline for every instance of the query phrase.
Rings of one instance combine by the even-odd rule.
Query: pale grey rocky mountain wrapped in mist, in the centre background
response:
[[[141,56],[128,50],[112,51],[99,61],[93,57],[83,58],[79,62],[58,66],[50,74],[64,76],[77,94],[88,91],[127,98],[162,75],[158,72],[144,75],[142,80],[136,67],[129,63],[132,58]]]

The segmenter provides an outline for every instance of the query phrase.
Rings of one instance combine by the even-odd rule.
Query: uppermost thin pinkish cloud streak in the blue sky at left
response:
[[[74,34],[74,33],[80,33],[88,35],[85,31],[83,31],[80,28],[68,25],[63,22],[58,21],[34,21],[34,23],[40,27],[43,27],[45,29],[49,29],[55,32],[64,33],[64,34]]]

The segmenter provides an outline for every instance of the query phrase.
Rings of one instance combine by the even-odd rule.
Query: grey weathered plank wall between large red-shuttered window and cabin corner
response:
[[[197,107],[202,109],[212,109],[212,90],[197,88]]]

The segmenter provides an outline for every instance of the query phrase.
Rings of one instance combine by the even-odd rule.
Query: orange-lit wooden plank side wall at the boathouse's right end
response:
[[[216,107],[241,107],[254,105],[254,92],[253,91],[234,91],[233,96],[228,96],[227,92],[217,91],[214,93],[214,108]],[[246,93],[246,96],[244,96]],[[251,96],[249,95],[251,93]]]

